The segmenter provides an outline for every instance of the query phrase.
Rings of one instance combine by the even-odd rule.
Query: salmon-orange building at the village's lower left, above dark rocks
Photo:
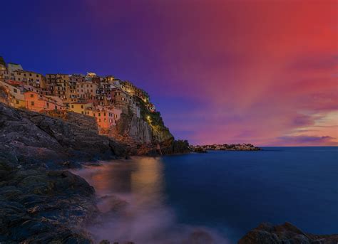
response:
[[[35,112],[43,110],[63,110],[63,105],[51,97],[45,97],[37,92],[24,92],[26,109]]]

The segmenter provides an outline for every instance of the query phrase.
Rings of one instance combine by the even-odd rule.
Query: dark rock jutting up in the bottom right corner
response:
[[[302,232],[291,223],[280,226],[272,226],[270,223],[261,223],[260,226],[251,230],[238,244],[336,244],[338,235],[312,235]]]

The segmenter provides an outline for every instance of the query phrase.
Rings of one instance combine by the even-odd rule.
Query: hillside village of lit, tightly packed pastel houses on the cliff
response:
[[[34,112],[65,110],[95,117],[101,134],[116,126],[121,113],[140,117],[140,102],[147,112],[155,112],[147,92],[127,80],[92,72],[43,75],[6,63],[1,56],[0,91],[0,102],[11,107]]]

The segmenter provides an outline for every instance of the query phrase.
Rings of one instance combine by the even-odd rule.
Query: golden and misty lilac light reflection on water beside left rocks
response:
[[[163,162],[135,157],[74,171],[96,189],[104,217],[88,226],[96,240],[124,243],[227,243],[212,230],[175,223],[165,206]]]

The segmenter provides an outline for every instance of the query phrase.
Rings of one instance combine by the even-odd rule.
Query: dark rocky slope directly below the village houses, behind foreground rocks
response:
[[[89,161],[125,154],[123,145],[98,135],[96,122],[91,117],[75,113],[49,117],[2,103],[0,142],[0,160],[11,164],[48,164],[70,159]]]

